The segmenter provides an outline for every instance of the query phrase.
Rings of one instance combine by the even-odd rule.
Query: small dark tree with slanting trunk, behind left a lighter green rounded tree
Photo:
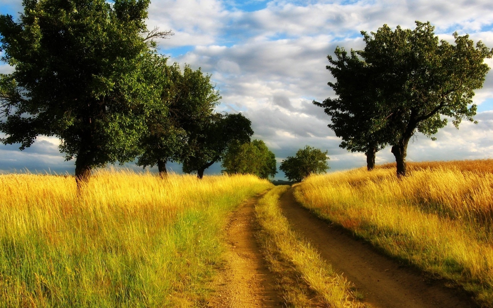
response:
[[[188,152],[183,158],[183,172],[196,171],[199,178],[204,176],[207,168],[223,158],[231,142],[249,142],[253,135],[250,120],[241,113],[215,113],[210,119],[203,130],[195,130],[189,136]]]

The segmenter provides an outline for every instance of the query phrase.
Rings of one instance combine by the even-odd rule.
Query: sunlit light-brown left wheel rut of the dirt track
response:
[[[229,217],[226,266],[215,281],[217,292],[208,307],[282,307],[254,237],[254,207],[260,197],[249,199]]]

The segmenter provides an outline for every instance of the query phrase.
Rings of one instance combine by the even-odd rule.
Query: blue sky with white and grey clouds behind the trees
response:
[[[20,0],[0,0],[0,13],[18,16]],[[439,39],[453,41],[453,33],[469,34],[493,47],[491,0],[153,0],[147,26],[172,30],[158,52],[177,62],[212,74],[222,96],[218,111],[242,112],[252,122],[252,138],[262,139],[276,154],[278,166],[305,145],[328,151],[330,171],[366,165],[362,153],[339,147],[341,139],[327,127],[330,118],[312,104],[334,98],[327,55],[336,46],[362,49],[360,31],[415,28],[430,21]],[[486,62],[493,67],[493,60]],[[0,65],[0,72],[12,68]],[[407,161],[486,159],[493,157],[493,72],[473,99],[475,120],[452,123],[432,141],[417,134],[408,146]],[[74,161],[64,161],[55,137],[37,137],[24,151],[0,145],[0,172],[73,173]],[[376,163],[393,162],[387,147]],[[132,163],[125,167],[141,170]],[[179,172],[177,164],[169,164]],[[220,164],[206,174],[219,173]],[[154,169],[151,169],[154,171]],[[285,179],[282,172],[277,179]]]

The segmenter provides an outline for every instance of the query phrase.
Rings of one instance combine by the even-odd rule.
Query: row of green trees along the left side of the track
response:
[[[147,30],[149,0],[23,5],[18,21],[0,16],[2,61],[14,68],[0,75],[4,144],[23,150],[38,135],[60,138],[66,160],[75,159],[78,185],[95,168],[136,158],[161,175],[168,162],[179,162],[202,178],[223,157],[226,172],[276,173],[274,154],[260,140],[249,143],[251,122],[214,111],[221,97],[211,76],[156,52],[155,39],[173,33]],[[269,162],[235,169],[239,146],[258,148]]]

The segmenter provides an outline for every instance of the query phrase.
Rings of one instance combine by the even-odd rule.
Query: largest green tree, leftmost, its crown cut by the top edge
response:
[[[0,16],[0,130],[5,144],[61,139],[77,183],[138,152],[149,106],[161,95],[149,0],[24,0],[18,21]]]

